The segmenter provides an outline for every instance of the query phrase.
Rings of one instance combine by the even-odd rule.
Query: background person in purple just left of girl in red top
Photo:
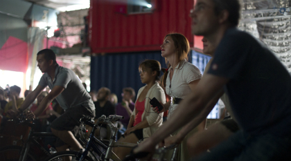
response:
[[[116,105],[116,115],[122,115],[124,118],[118,122],[118,137],[122,135],[126,129],[128,122],[130,122],[130,116],[134,110],[134,102],[132,100],[135,97],[134,89],[131,87],[123,88],[123,93],[121,93],[122,102]]]

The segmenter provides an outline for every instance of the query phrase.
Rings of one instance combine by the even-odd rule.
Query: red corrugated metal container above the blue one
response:
[[[169,32],[180,32],[193,46],[191,0],[157,0],[152,13],[127,15],[116,12],[116,1],[91,0],[89,41],[92,53],[160,50]],[[126,3],[125,3],[126,5]]]

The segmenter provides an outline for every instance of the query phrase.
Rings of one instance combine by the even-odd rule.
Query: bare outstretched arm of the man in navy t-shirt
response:
[[[192,92],[191,95],[179,104],[179,108],[173,113],[171,119],[163,124],[148,140],[142,142],[134,152],[152,151],[152,149],[155,149],[156,144],[179,129],[179,127],[191,122],[191,120],[195,120],[192,125],[197,126],[207,117],[213,108],[213,106],[207,106],[207,104],[214,97],[220,95],[222,87],[228,81],[229,79],[224,77],[205,74],[197,84],[195,92]]]

